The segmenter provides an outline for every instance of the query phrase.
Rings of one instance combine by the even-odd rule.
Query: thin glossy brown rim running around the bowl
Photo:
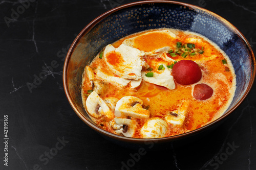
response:
[[[198,128],[198,129],[195,129],[193,131],[186,132],[186,133],[182,133],[182,134],[179,134],[179,135],[168,136],[168,137],[163,137],[163,138],[131,138],[131,137],[119,136],[119,135],[113,134],[111,132],[105,131],[105,130],[99,128],[98,126],[94,125],[93,123],[91,123],[76,108],[75,102],[72,101],[72,98],[71,98],[71,95],[70,95],[70,92],[69,92],[69,88],[68,88],[68,84],[67,84],[67,68],[68,68],[68,64],[69,64],[71,55],[73,53],[73,50],[74,50],[74,48],[76,47],[76,45],[78,44],[78,42],[80,40],[80,37],[82,37],[82,35],[88,33],[98,22],[101,21],[101,19],[109,16],[110,14],[112,14],[114,12],[117,12],[117,11],[119,11],[121,9],[124,9],[124,8],[132,7],[132,6],[136,6],[136,5],[142,5],[142,4],[155,4],[155,3],[176,4],[176,5],[186,6],[186,7],[189,7],[191,9],[198,9],[198,10],[204,11],[204,12],[214,16],[218,20],[222,21],[223,24],[226,27],[228,27],[229,29],[232,29],[234,32],[236,32],[240,36],[240,38],[242,38],[244,40],[245,44],[248,46],[248,50],[250,51],[250,53],[252,55],[251,57],[252,57],[252,60],[253,60],[252,75],[251,75],[248,87],[247,87],[244,95],[241,97],[241,99],[232,108],[230,108],[230,110],[228,110],[225,114],[223,114],[222,116],[220,116],[219,118],[217,118],[213,122],[211,122],[211,123],[209,123],[209,124],[207,124],[207,125],[205,125],[205,126],[203,126],[201,128]],[[181,2],[174,2],[174,1],[140,1],[140,2],[134,2],[134,3],[125,4],[125,5],[113,8],[113,9],[111,9],[109,11],[106,11],[103,14],[99,15],[94,20],[92,20],[86,27],[84,27],[83,30],[77,35],[77,37],[75,38],[75,40],[73,41],[73,43],[71,44],[71,46],[69,48],[69,51],[68,51],[66,59],[65,59],[65,63],[63,65],[63,77],[62,77],[62,79],[63,79],[63,88],[65,90],[67,99],[68,99],[72,109],[75,111],[75,113],[78,115],[78,117],[83,120],[84,123],[86,123],[89,127],[91,127],[92,129],[96,130],[100,134],[107,135],[110,138],[118,139],[118,140],[122,140],[122,141],[126,141],[126,142],[137,142],[137,143],[143,143],[143,142],[146,142],[146,141],[165,142],[165,141],[178,140],[178,139],[181,139],[181,138],[184,138],[184,137],[192,136],[194,134],[198,134],[200,132],[203,132],[204,130],[208,129],[209,127],[212,127],[212,126],[216,125],[217,123],[221,122],[227,116],[229,116],[234,110],[236,110],[240,106],[240,104],[245,100],[245,98],[247,97],[249,91],[252,88],[252,85],[253,85],[254,80],[255,80],[255,74],[256,74],[255,73],[256,72],[255,71],[255,68],[256,68],[256,64],[255,63],[256,62],[255,62],[255,57],[254,57],[253,51],[251,49],[251,46],[250,46],[249,42],[245,38],[245,36],[236,27],[234,27],[229,21],[227,21],[223,17],[215,14],[214,12],[211,12],[209,10],[206,10],[204,8],[201,8],[201,7],[198,7],[198,6],[195,6],[195,5],[191,5],[191,4],[187,4],[187,3],[181,3]]]

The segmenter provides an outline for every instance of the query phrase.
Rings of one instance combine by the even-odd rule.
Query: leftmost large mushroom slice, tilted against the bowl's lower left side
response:
[[[93,91],[86,100],[86,109],[87,112],[98,118],[102,115],[105,115],[108,118],[113,118],[114,113],[111,111],[109,106],[100,98],[100,96]]]

